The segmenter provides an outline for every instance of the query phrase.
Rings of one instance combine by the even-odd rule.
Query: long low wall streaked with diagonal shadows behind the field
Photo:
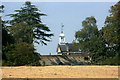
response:
[[[40,56],[40,63],[43,65],[82,65],[84,60],[84,55],[42,55]]]

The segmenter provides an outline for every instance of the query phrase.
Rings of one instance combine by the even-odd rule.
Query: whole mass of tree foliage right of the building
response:
[[[88,17],[82,22],[83,28],[75,33],[80,48],[89,52],[93,64],[120,64],[120,1],[109,12],[101,30],[96,28],[94,17]]]

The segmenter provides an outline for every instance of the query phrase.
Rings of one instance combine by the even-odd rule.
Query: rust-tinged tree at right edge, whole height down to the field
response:
[[[110,16],[106,17],[103,27],[104,38],[108,45],[110,64],[120,64],[120,1],[109,10]],[[106,61],[106,62],[107,62]]]

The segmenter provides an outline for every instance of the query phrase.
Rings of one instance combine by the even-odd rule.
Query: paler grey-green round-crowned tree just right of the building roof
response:
[[[98,34],[98,28],[96,25],[96,19],[91,16],[87,17],[83,22],[82,22],[82,29],[77,31],[75,33],[75,38],[79,41],[80,43],[80,48],[83,50],[89,51],[89,40],[93,36],[97,36]]]

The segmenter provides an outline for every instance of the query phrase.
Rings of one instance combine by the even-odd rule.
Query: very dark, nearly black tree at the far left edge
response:
[[[0,12],[3,13],[4,10],[4,6],[1,5],[0,6],[1,10]],[[7,26],[5,25],[5,21],[3,21],[1,18],[0,18],[0,31],[2,30],[2,32],[0,32],[2,38],[0,38],[0,44],[2,45],[2,60],[6,60],[6,55],[5,55],[5,52],[7,52],[8,50],[6,48],[8,48],[11,44],[14,43],[14,38],[13,36],[11,36],[9,33],[8,33],[8,30],[6,28]],[[1,46],[0,46],[1,47]],[[1,48],[0,48],[1,49]]]

